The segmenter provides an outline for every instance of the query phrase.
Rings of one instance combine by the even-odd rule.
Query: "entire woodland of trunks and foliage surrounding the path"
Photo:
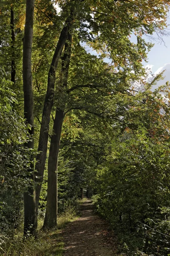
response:
[[[142,65],[169,6],[0,1],[0,248],[86,193],[125,255],[170,255],[169,83]]]

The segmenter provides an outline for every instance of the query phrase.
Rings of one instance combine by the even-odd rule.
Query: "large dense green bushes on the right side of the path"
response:
[[[126,127],[113,131],[105,161],[97,167],[95,204],[130,255],[139,248],[161,256],[169,250],[170,236],[169,104],[158,91],[142,94],[127,108]]]

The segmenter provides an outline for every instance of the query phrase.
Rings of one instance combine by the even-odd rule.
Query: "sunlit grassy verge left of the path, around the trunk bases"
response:
[[[77,217],[74,208],[68,209],[58,217],[57,229],[42,231],[42,219],[38,221],[38,239],[23,240],[22,227],[16,231],[13,238],[2,237],[0,241],[0,256],[62,256],[64,243],[62,228]]]

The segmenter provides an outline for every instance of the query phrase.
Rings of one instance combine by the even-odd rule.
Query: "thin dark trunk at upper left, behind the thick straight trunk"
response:
[[[14,11],[11,8],[11,81],[15,84],[16,67],[15,67],[14,44],[15,44]]]

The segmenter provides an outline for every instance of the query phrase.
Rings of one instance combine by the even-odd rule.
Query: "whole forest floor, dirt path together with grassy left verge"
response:
[[[0,246],[0,256],[126,256],[106,221],[94,213],[90,200],[80,205],[81,217],[71,214],[58,218],[57,229],[40,231],[38,239],[23,241],[19,232]]]

